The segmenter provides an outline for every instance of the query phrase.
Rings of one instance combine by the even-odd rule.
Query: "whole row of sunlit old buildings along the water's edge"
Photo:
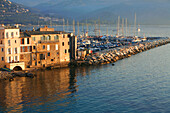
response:
[[[0,67],[41,68],[68,64],[76,59],[77,37],[53,28],[20,32],[19,28],[0,29]]]

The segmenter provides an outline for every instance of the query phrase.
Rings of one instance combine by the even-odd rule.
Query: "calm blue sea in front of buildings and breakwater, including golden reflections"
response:
[[[168,33],[168,32],[167,32]],[[170,112],[170,44],[115,63],[0,82],[0,112]]]

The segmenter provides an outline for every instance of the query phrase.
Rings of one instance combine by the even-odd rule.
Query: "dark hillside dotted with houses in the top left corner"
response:
[[[37,24],[39,15],[36,10],[7,0],[0,0],[1,24]]]

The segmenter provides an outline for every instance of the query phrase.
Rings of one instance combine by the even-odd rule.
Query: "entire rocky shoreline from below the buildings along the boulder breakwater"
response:
[[[34,78],[35,72],[38,70],[53,70],[53,69],[61,69],[61,68],[68,68],[68,67],[79,67],[79,66],[95,66],[95,65],[103,65],[103,64],[110,64],[112,63],[112,66],[114,66],[114,62],[118,60],[122,60],[124,58],[128,58],[132,55],[160,47],[166,44],[170,43],[170,38],[163,39],[163,40],[157,40],[153,42],[146,42],[141,43],[134,46],[128,46],[128,47],[119,47],[109,50],[103,50],[96,52],[95,54],[86,56],[84,60],[77,60],[72,61],[68,65],[59,66],[59,67],[53,67],[50,66],[49,68],[33,68],[29,70],[23,70],[19,72],[5,72],[0,71],[0,80],[9,80],[13,81],[15,77],[30,77]]]

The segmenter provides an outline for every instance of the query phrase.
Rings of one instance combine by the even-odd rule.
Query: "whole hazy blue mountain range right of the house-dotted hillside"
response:
[[[13,0],[40,10],[41,14],[85,22],[114,22],[117,16],[133,24],[170,24],[170,0]],[[32,4],[32,5],[31,5]]]

